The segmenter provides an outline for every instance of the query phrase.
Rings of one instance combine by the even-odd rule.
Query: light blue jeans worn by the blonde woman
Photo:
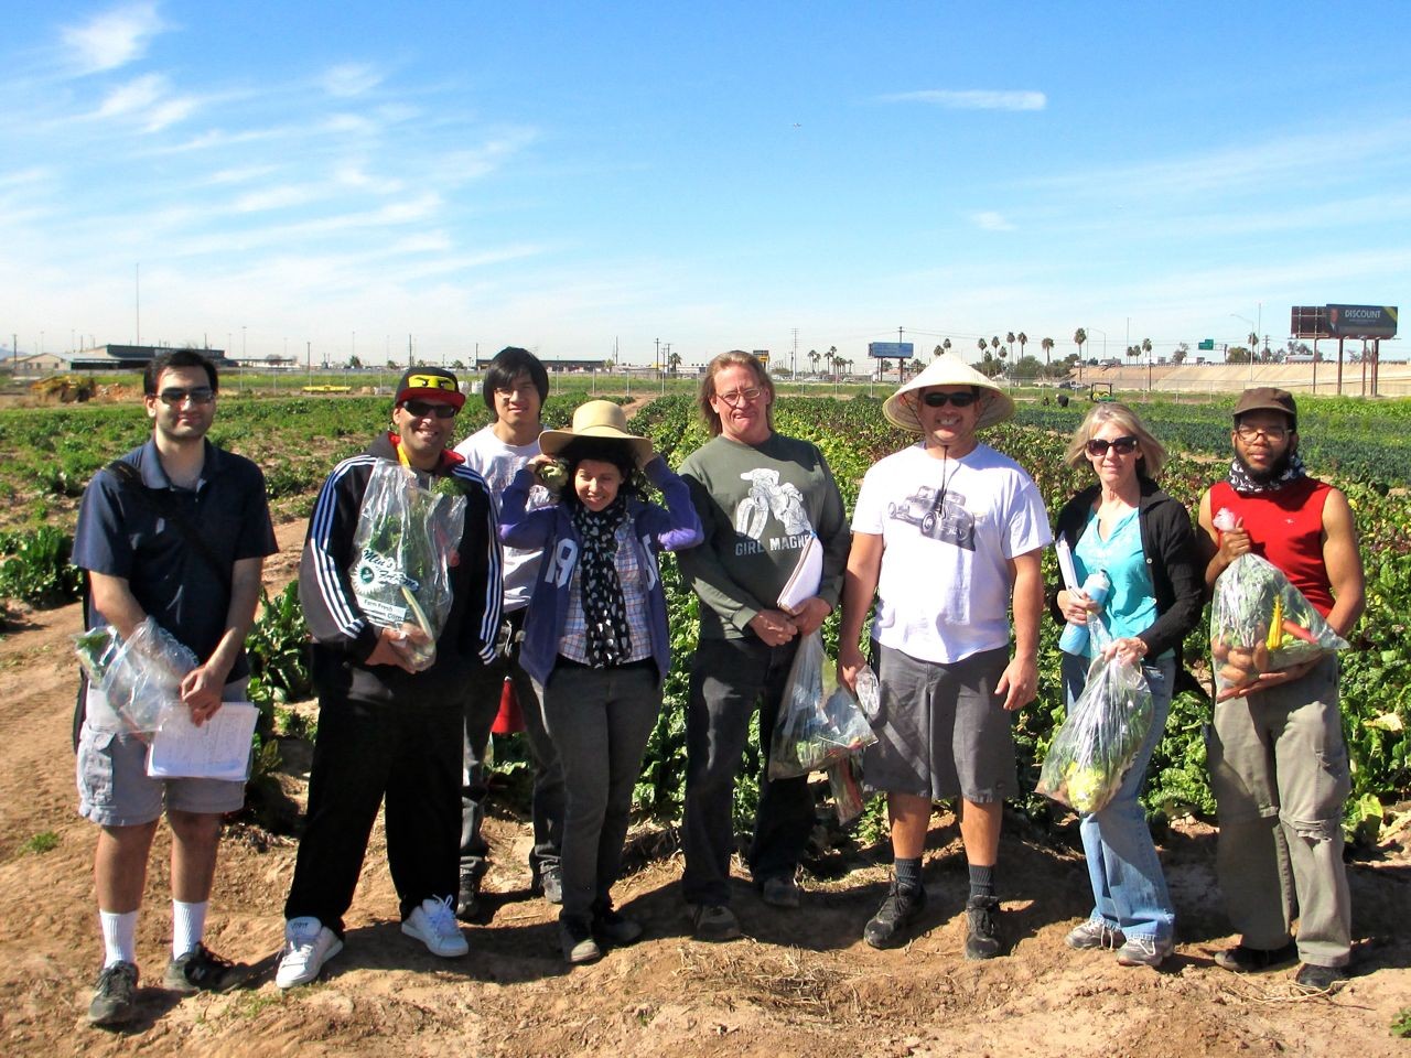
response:
[[[1165,731],[1175,660],[1167,657],[1143,664],[1141,670],[1151,687],[1151,729],[1123,776],[1116,797],[1101,811],[1084,815],[1079,831],[1096,901],[1091,917],[1122,930],[1127,937],[1150,937],[1161,944],[1175,932],[1175,908],[1137,794],[1151,753]],[[1070,708],[1082,693],[1086,676],[1086,659],[1068,653],[1062,656],[1062,683]]]

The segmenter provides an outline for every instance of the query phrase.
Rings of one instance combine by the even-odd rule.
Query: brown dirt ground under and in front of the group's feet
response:
[[[279,530],[282,584],[302,526]],[[1009,825],[1000,855],[1003,928],[1013,947],[985,963],[961,956],[965,868],[952,820],[938,814],[927,852],[927,931],[879,952],[859,938],[885,894],[878,851],[834,856],[804,879],[797,911],[765,908],[744,875],[735,907],[749,940],[690,940],[676,856],[641,852],[618,886],[646,925],[632,948],[569,969],[555,914],[528,892],[528,828],[508,813],[488,828],[495,868],[470,955],[442,961],[404,937],[374,834],[349,916],[344,952],[325,978],[281,993],[272,983],[281,907],[295,845],[233,827],[222,852],[207,942],[253,966],[248,985],[178,1002],[152,987],[169,944],[165,831],[138,930],[141,1016],[126,1033],[89,1028],[83,1013],[100,961],[90,865],[95,828],[75,814],[69,721],[78,607],[30,615],[0,642],[0,1052],[143,1055],[1376,1055],[1411,1054],[1388,1027],[1411,1006],[1411,862],[1390,842],[1349,868],[1356,976],[1333,996],[1297,996],[1291,969],[1256,978],[1219,971],[1232,941],[1213,883],[1213,834],[1178,827],[1163,859],[1180,913],[1175,958],[1160,972],[1123,969],[1110,952],[1068,951],[1088,911],[1078,856]],[[288,783],[306,760],[288,746]],[[47,852],[31,846],[52,832]],[[669,842],[643,842],[660,848]]]

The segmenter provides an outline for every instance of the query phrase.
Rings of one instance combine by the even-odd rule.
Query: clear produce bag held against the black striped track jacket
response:
[[[353,592],[367,618],[401,629],[416,671],[436,662],[450,612],[452,556],[466,526],[466,498],[423,488],[388,460],[373,467],[353,535]]]

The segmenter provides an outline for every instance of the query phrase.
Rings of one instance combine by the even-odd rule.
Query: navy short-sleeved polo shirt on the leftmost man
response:
[[[172,485],[154,440],[123,456],[141,473],[141,485],[123,484],[106,467],[100,470],[83,491],[73,536],[75,566],[127,580],[147,615],[202,662],[224,635],[236,561],[278,550],[260,467],[209,440],[205,444],[206,460],[195,490]],[[137,495],[137,488],[150,490],[157,502]],[[181,505],[220,573],[188,542],[188,532],[164,516],[172,504]],[[106,624],[96,611],[92,622]],[[247,673],[241,652],[229,679]]]

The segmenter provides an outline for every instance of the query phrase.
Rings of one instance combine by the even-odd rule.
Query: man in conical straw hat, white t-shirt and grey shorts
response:
[[[849,687],[866,664],[858,639],[876,597],[882,710],[862,772],[888,794],[895,859],[890,892],[864,938],[875,948],[910,938],[926,907],[931,803],[958,797],[969,865],[965,956],[988,959],[1000,951],[1003,801],[1017,793],[1010,714],[1038,684],[1048,515],[1029,474],[976,440],[978,429],[1012,416],[1015,402],[959,357],[937,357],[883,413],[921,440],[862,480],[842,584],[838,674]]]

